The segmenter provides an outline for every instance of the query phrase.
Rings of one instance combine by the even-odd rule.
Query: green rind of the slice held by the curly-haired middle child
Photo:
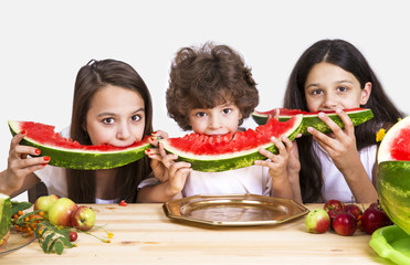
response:
[[[294,126],[287,131],[284,131],[283,136],[286,136],[290,140],[294,140],[299,132],[302,119],[302,115],[297,115]],[[193,170],[204,172],[219,172],[253,166],[255,160],[266,159],[265,156],[259,152],[260,148],[265,148],[272,153],[278,152],[276,146],[273,142],[267,142],[265,145],[245,151],[235,151],[218,156],[198,156],[175,149],[171,145],[169,145],[167,139],[161,139],[160,142],[164,144],[164,148],[168,152],[178,155],[179,161],[189,162],[191,163],[191,168]]]

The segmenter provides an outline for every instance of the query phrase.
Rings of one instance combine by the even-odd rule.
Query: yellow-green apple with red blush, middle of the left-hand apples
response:
[[[60,198],[49,210],[49,220],[52,224],[71,226],[71,214],[77,210],[77,204],[69,198]]]

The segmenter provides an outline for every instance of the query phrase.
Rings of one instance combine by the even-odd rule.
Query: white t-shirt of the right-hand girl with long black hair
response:
[[[351,202],[353,193],[343,173],[336,168],[328,153],[316,141],[314,141],[313,148],[322,162],[322,176],[324,181],[322,194],[324,201],[336,199],[343,202]],[[370,180],[372,180],[377,145],[368,146],[359,151],[361,163]]]

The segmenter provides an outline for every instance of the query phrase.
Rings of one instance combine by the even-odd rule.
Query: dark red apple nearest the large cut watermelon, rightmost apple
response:
[[[361,215],[361,227],[372,234],[376,230],[391,225],[392,222],[378,203],[372,203]]]

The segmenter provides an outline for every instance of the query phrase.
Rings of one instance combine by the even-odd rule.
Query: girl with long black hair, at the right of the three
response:
[[[388,129],[403,115],[386,95],[364,55],[343,40],[322,40],[308,47],[296,62],[287,84],[285,108],[320,112],[334,109],[345,124],[341,130],[319,113],[333,130],[325,135],[308,128],[312,136],[296,140],[299,186],[304,203],[329,199],[376,202],[376,132]],[[345,108],[370,108],[374,118],[356,128]],[[297,183],[297,181],[294,181]]]

